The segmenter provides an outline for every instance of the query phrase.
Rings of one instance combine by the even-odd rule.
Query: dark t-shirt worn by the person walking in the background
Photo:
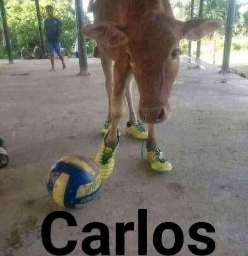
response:
[[[44,21],[47,40],[51,43],[58,43],[58,36],[60,35],[60,20],[56,17],[48,17]]]

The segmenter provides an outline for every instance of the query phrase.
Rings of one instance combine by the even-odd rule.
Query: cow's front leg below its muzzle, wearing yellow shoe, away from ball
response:
[[[147,162],[153,171],[170,171],[171,163],[163,157],[163,152],[157,147],[155,125],[149,125],[147,137]]]

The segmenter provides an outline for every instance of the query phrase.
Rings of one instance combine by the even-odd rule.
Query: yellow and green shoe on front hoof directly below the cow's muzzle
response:
[[[147,151],[147,162],[151,164],[153,171],[171,171],[171,163],[163,157],[161,149],[155,148]]]

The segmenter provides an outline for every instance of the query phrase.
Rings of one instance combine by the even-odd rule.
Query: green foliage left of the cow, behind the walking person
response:
[[[74,0],[40,0],[40,12],[42,22],[47,17],[45,6],[54,7],[54,15],[60,18],[62,23],[61,45],[67,48],[71,54],[73,45],[77,38]],[[30,53],[39,44],[39,29],[35,2],[33,0],[5,0],[7,22],[11,31],[14,58],[20,58],[21,49],[25,47]],[[85,16],[86,23],[90,20]],[[44,29],[43,29],[44,32]],[[0,45],[0,59],[6,58],[5,49]]]

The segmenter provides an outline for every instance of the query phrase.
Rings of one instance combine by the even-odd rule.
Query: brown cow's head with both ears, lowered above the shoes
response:
[[[181,22],[149,12],[126,26],[99,23],[84,27],[82,32],[108,47],[124,46],[123,56],[130,63],[140,92],[140,118],[154,124],[170,115],[168,100],[179,70],[180,40],[199,40],[221,25],[218,20]]]

